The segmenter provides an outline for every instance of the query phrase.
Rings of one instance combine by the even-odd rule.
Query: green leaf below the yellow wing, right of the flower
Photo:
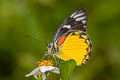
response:
[[[61,61],[59,65],[61,80],[69,80],[75,67],[76,63],[74,60]]]

